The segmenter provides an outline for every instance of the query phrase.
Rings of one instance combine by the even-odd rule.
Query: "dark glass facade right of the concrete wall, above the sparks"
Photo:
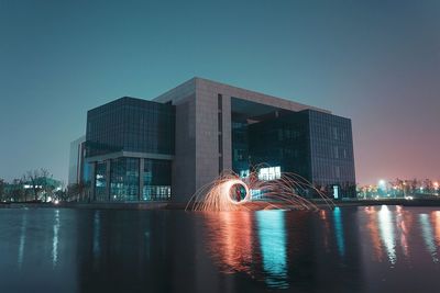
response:
[[[324,112],[293,112],[237,98],[232,108],[232,167],[279,168],[332,195],[355,196],[351,121]],[[271,169],[268,169],[271,170]],[[314,195],[312,192],[309,195]]]

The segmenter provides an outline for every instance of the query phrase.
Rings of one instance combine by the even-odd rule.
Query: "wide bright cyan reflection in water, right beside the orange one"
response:
[[[258,239],[262,250],[263,269],[267,273],[265,280],[268,286],[288,288],[286,228],[283,211],[256,212]]]

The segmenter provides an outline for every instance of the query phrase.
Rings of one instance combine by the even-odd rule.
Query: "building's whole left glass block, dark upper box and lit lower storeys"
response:
[[[90,110],[86,157],[95,166],[94,199],[170,200],[170,159],[151,157],[174,155],[174,124],[169,103],[125,97]]]

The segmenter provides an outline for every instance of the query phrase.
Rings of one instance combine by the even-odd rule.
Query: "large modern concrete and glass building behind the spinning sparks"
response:
[[[244,177],[261,164],[266,179],[295,172],[355,196],[349,119],[202,78],[88,111],[84,159],[96,201],[187,202],[223,170]]]

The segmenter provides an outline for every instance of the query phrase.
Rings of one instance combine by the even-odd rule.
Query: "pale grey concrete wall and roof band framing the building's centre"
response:
[[[173,161],[175,201],[188,201],[198,189],[219,176],[219,169],[232,169],[231,97],[294,112],[311,109],[330,113],[197,77],[155,98],[153,101],[170,101],[176,105],[176,154]],[[222,100],[221,132],[219,99]],[[219,134],[222,154],[219,154]]]

